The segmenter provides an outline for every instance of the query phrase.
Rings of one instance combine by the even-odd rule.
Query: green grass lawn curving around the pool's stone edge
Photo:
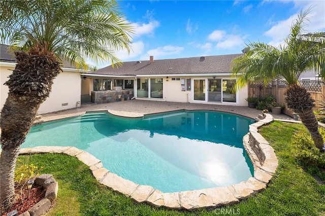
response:
[[[236,205],[219,209],[177,211],[134,203],[96,182],[77,158],[62,154],[19,156],[22,163],[44,166],[59,184],[57,203],[48,215],[325,215],[325,186],[312,177],[310,167],[301,167],[291,151],[291,138],[306,132],[301,124],[275,121],[263,126],[262,135],[275,149],[277,172],[267,189]]]

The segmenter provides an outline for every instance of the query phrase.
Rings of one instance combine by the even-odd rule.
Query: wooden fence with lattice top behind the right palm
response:
[[[324,102],[325,87],[323,84],[318,84],[316,81],[300,81],[299,85],[304,86],[310,93],[311,97],[315,100],[316,108],[321,107],[320,104]],[[285,104],[285,91],[286,84],[280,80],[272,81],[267,84],[261,82],[252,82],[248,86],[249,97],[267,97],[273,95],[273,97],[279,102]],[[294,114],[291,110],[284,109],[284,114],[293,117]]]

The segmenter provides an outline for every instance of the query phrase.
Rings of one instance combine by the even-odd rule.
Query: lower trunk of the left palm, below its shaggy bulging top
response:
[[[9,94],[1,112],[0,197],[2,211],[15,203],[14,173],[20,145],[34,122],[41,102]]]

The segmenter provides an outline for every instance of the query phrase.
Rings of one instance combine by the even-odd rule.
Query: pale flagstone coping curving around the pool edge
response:
[[[111,112],[110,110],[108,112],[122,117],[129,117],[130,115],[128,112]],[[84,113],[79,113],[78,115],[82,114]],[[72,116],[66,116],[63,118],[68,117]],[[143,115],[133,115],[133,118],[139,117],[143,117]],[[75,147],[32,147],[20,149],[19,154],[62,153],[77,157],[81,162],[89,166],[89,169],[92,171],[93,176],[98,182],[114,191],[118,191],[131,197],[138,203],[145,202],[153,206],[165,206],[170,209],[186,210],[220,207],[223,205],[238,203],[257,192],[264,190],[277,169],[278,159],[274,153],[274,149],[269,145],[266,139],[258,133],[259,127],[271,123],[274,119],[270,114],[263,114],[263,118],[264,119],[251,124],[249,126],[249,132],[243,137],[243,145],[247,155],[252,161],[254,175],[247,181],[232,186],[163,193],[155,190],[151,186],[138,185],[111,173],[103,167],[103,164],[99,159]]]

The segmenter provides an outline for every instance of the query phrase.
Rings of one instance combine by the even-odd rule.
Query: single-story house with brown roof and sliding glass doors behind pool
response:
[[[130,98],[247,106],[248,89],[233,93],[230,69],[243,54],[123,62],[82,74],[81,98],[94,103]],[[87,99],[86,99],[87,98]],[[83,102],[83,99],[82,99]]]

